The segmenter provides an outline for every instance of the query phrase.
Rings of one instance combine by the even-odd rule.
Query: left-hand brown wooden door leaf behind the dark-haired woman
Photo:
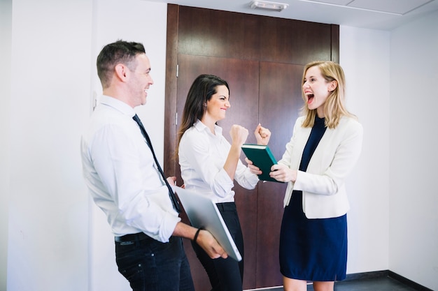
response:
[[[229,142],[229,128],[232,124],[239,124],[248,128],[250,137],[248,141],[255,142],[253,131],[258,122],[258,62],[240,59],[222,59],[217,57],[193,56],[190,54],[178,55],[178,94],[176,107],[178,124],[181,124],[183,107],[187,93],[193,80],[200,74],[212,74],[221,77],[229,84],[229,102],[231,107],[227,110],[226,119],[218,122],[222,127],[222,134]],[[178,168],[178,179],[181,184],[181,174]],[[242,225],[243,241],[245,243],[245,273],[243,287],[245,289],[255,286],[255,258],[256,258],[256,231],[257,231],[257,191],[246,190],[236,184],[235,200]],[[209,289],[210,283],[204,268],[192,251],[190,243],[186,243],[192,276],[197,290]]]

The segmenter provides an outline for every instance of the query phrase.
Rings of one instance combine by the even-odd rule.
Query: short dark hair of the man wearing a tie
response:
[[[138,54],[145,54],[143,44],[117,40],[115,43],[105,45],[97,56],[97,75],[102,87],[111,84],[113,71],[117,64],[125,64],[129,70],[135,70],[135,58]]]

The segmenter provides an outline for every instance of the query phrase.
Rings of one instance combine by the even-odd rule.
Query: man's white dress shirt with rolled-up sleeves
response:
[[[134,115],[126,103],[101,97],[81,140],[85,182],[115,236],[144,232],[167,242],[181,218]]]

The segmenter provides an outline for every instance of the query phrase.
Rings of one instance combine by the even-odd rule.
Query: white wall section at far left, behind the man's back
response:
[[[87,288],[90,0],[13,0],[8,290]]]

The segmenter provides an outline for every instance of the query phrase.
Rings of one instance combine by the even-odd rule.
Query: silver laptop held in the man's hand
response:
[[[175,186],[175,191],[192,226],[211,232],[231,258],[241,261],[242,256],[216,204],[208,197],[178,186]]]

